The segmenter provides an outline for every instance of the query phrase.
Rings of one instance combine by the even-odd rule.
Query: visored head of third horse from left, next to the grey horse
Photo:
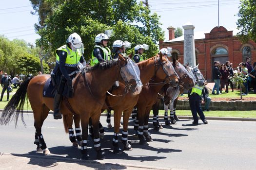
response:
[[[179,85],[181,85],[185,89],[190,89],[194,87],[194,77],[189,67],[187,67],[186,69],[182,64],[179,63],[179,60],[176,60],[175,58],[173,58],[172,64],[179,76]]]

